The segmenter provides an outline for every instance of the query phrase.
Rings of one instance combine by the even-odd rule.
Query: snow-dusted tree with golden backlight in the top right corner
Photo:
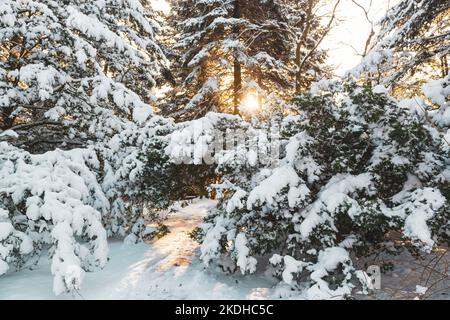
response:
[[[354,70],[403,97],[419,94],[430,79],[449,72],[450,4],[402,0],[380,21],[373,48]]]

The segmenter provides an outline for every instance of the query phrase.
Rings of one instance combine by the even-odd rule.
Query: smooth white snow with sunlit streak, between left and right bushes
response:
[[[0,299],[258,299],[274,282],[263,275],[243,277],[207,269],[198,259],[192,231],[211,200],[180,208],[169,217],[170,233],[151,244],[110,243],[110,261],[103,270],[87,273],[78,293],[55,297],[47,259],[35,270],[0,278]]]

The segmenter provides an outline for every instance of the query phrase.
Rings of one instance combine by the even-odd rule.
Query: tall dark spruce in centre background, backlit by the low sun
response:
[[[178,33],[174,49],[180,55],[174,74],[180,88],[163,106],[165,114],[179,119],[208,111],[237,114],[248,94],[262,104],[269,93],[284,96],[295,87],[295,39],[302,27],[297,1],[177,1],[173,12]],[[311,23],[301,43],[297,39],[299,51],[300,46],[303,51],[314,47],[313,39],[322,32],[318,21]],[[317,80],[314,74],[322,75],[317,66],[325,54],[301,53],[302,83],[307,86]]]

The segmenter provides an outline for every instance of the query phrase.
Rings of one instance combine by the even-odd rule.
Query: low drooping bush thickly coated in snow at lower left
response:
[[[33,155],[0,142],[0,274],[50,247],[54,292],[79,289],[85,270],[108,258],[93,150]]]

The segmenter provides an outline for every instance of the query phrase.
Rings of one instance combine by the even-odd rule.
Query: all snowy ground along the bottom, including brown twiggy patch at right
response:
[[[55,296],[50,261],[42,258],[33,270],[0,277],[0,299],[273,299],[280,294],[286,298],[286,288],[275,289],[278,281],[262,271],[245,277],[239,272],[225,274],[206,268],[199,260],[199,245],[188,233],[215,204],[203,199],[184,208],[177,206],[165,222],[170,232],[149,244],[110,242],[110,261],[103,270],[87,273],[79,292]],[[445,278],[448,269],[442,266],[448,266],[447,254],[429,256],[424,261],[406,254],[395,259],[396,269],[381,278],[383,290],[358,299],[449,299],[448,281],[435,283],[436,275],[430,273],[439,272],[436,279],[442,279],[442,275]],[[429,290],[433,294],[420,293],[426,290],[421,285],[434,286]]]

